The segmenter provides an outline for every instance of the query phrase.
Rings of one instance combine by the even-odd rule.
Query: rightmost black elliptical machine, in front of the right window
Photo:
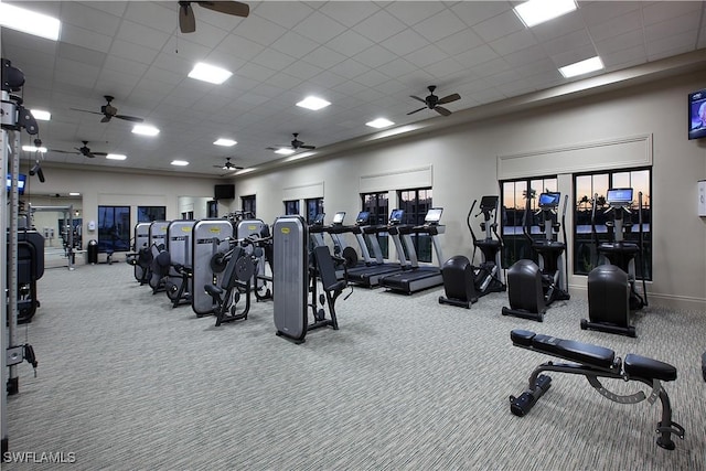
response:
[[[625,240],[624,233],[632,231],[633,191],[630,188],[609,189],[606,195],[608,217],[606,227],[612,242],[600,243],[596,227],[598,194],[593,195],[591,231],[596,244],[597,258],[602,257],[609,265],[598,265],[588,274],[588,317],[581,319],[581,329],[637,336],[634,325],[630,325],[630,313],[648,306],[644,277],[644,237],[642,221],[642,192],[638,195],[639,240]],[[635,288],[635,260],[641,264],[642,295]],[[598,260],[599,261],[599,260]]]

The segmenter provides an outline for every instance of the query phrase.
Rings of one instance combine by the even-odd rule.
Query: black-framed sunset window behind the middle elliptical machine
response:
[[[534,179],[506,180],[501,182],[502,201],[502,237],[503,237],[503,267],[507,268],[515,261],[526,258],[535,263],[538,257],[525,238],[522,226],[525,221],[525,208],[530,199],[531,210],[537,208],[537,199],[545,191],[557,191],[556,176],[541,176]]]

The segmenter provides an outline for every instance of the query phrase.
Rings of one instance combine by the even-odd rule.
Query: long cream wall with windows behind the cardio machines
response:
[[[434,204],[445,207],[445,255],[470,255],[466,216],[473,199],[499,194],[499,157],[542,153],[538,163],[552,170],[554,162],[564,169],[559,189],[567,193],[571,191],[571,172],[582,163],[577,159],[567,167],[563,160],[569,158],[566,152],[550,154],[547,160],[547,150],[630,142],[638,137],[637,143],[624,149],[633,154],[645,151],[645,161],[653,163],[651,301],[705,309],[706,218],[696,215],[696,182],[706,178],[706,142],[688,141],[686,137],[687,93],[705,86],[706,72],[693,73],[364,147],[329,160],[243,175],[236,180],[236,201],[255,194],[258,217],[271,222],[282,213],[284,196],[290,196],[292,189],[321,188],[323,194],[317,196],[324,197],[328,213],[357,214],[362,182],[370,181],[366,176],[382,175],[378,182],[397,184],[396,173],[430,168]],[[619,148],[607,148],[606,152],[614,149]],[[596,158],[587,160],[584,170],[596,170],[596,161],[605,157],[600,148],[593,152],[598,152],[593,153]],[[607,157],[602,165],[614,167],[610,162],[620,158]],[[586,277],[571,276],[569,282],[574,291],[585,290]]]

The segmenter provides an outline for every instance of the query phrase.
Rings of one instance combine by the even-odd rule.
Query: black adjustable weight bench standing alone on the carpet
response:
[[[661,384],[661,382],[676,379],[676,368],[674,366],[632,353],[621,360],[616,356],[616,352],[603,346],[536,334],[526,330],[513,330],[510,332],[510,339],[515,346],[573,362],[546,362],[537,366],[530,376],[528,389],[518,397],[510,396],[510,410],[514,415],[524,417],[532,410],[544,393],[549,389],[552,378],[539,373],[547,371],[578,374],[586,376],[588,383],[598,393],[616,403],[637,404],[648,399],[648,403],[654,404],[659,398],[662,403],[662,419],[656,427],[657,445],[667,450],[673,450],[672,433],[675,433],[681,439],[684,438],[684,428],[672,421],[670,396]],[[601,377],[641,382],[652,387],[652,393],[649,397],[642,390],[621,396],[606,389],[598,379]]]

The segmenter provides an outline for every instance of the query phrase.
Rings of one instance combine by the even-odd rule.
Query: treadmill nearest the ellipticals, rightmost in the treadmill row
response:
[[[443,234],[446,229],[446,226],[439,225],[442,212],[443,208],[441,207],[432,207],[427,212],[422,225],[413,226],[408,229],[400,231],[405,239],[407,254],[411,259],[411,269],[383,277],[379,280],[379,285],[382,287],[385,287],[392,291],[411,295],[417,291],[443,285],[443,278],[441,276],[440,267],[440,265],[443,263],[443,258],[441,256],[441,248],[438,244],[437,238],[437,236],[439,234]],[[439,266],[418,265],[417,254],[411,242],[411,234],[428,234],[431,236],[431,245],[434,246]]]

